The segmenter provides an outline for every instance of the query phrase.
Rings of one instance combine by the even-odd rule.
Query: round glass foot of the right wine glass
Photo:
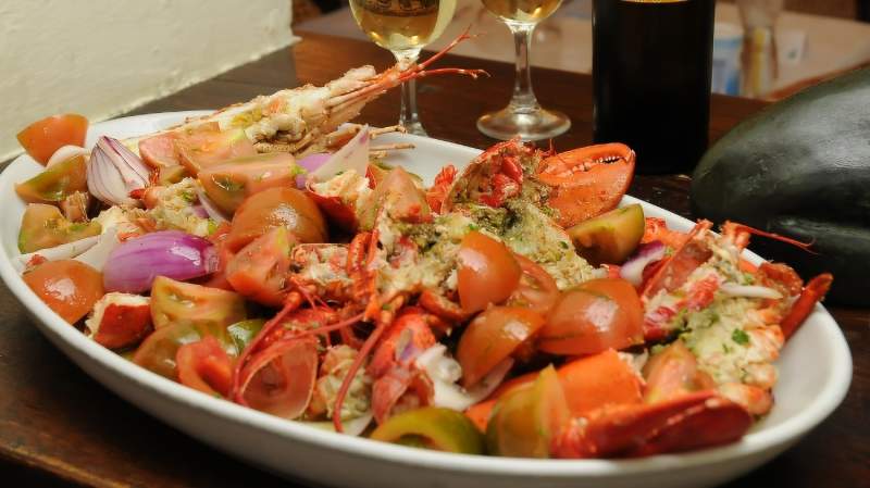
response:
[[[568,115],[556,110],[514,112],[510,107],[477,118],[477,129],[494,139],[540,140],[564,134],[571,127]]]

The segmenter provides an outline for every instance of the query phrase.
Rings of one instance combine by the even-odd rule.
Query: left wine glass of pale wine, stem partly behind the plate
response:
[[[353,20],[377,46],[388,49],[400,66],[415,63],[420,50],[450,23],[457,0],[349,0]],[[417,84],[401,86],[399,125],[426,136],[417,113]]]

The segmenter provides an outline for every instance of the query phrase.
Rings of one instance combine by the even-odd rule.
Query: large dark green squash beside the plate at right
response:
[[[870,305],[870,68],[806,89],[720,139],[692,180],[695,215],[812,240],[819,254],[755,239],[832,301]]]

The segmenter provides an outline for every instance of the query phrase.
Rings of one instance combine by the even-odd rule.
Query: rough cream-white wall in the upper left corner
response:
[[[287,46],[290,0],[0,0],[0,161],[15,134],[91,122]]]

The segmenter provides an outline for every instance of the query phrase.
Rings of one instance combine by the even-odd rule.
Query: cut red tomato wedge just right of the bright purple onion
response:
[[[226,280],[239,295],[258,303],[281,306],[287,295],[290,248],[296,239],[275,227],[245,246],[226,265]]]

